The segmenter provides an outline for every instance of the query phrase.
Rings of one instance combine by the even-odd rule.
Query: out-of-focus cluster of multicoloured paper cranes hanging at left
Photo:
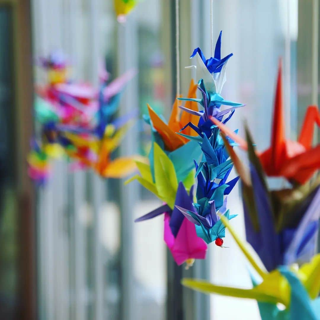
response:
[[[36,120],[41,124],[41,148],[33,148],[29,156],[31,178],[45,181],[52,150],[59,146],[60,155],[67,154],[75,162],[72,168],[92,168],[105,178],[122,178],[135,169],[137,156],[112,160],[111,153],[127,131],[132,112],[113,120],[124,85],[136,74],[129,70],[111,83],[101,67],[99,90],[90,84],[67,80],[67,61],[60,53],[40,58],[48,70],[49,84],[38,87]],[[54,72],[53,72],[54,71]],[[53,73],[52,73],[53,72]],[[41,162],[39,159],[44,159]],[[45,164],[45,165],[44,165]]]

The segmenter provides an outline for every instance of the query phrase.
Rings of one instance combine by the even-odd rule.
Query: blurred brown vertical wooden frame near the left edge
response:
[[[15,88],[15,163],[19,223],[18,319],[36,319],[35,193],[27,174],[26,157],[33,132],[31,17],[29,0],[0,0],[13,11],[13,68]]]

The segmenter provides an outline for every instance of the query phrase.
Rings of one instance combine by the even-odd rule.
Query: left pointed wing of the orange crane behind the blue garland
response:
[[[183,146],[185,141],[182,137],[176,134],[167,124],[165,124],[149,105],[147,106],[152,124],[163,139],[165,148],[168,151],[173,151]]]

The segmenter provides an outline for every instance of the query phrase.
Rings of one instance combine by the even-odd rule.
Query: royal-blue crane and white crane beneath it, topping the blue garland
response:
[[[190,58],[196,57],[196,65],[186,68],[196,68],[196,78],[203,79],[209,92],[221,93],[223,84],[226,82],[226,68],[232,53],[221,59],[221,36],[218,37],[214,50],[214,57],[206,60],[200,48],[196,48]]]

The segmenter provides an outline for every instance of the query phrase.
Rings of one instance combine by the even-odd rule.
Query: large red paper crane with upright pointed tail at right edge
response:
[[[231,132],[220,121],[211,118],[222,132],[247,149],[246,142]],[[285,138],[284,110],[282,97],[282,70],[278,68],[276,96],[273,111],[271,146],[257,155],[268,176],[282,176],[304,184],[320,168],[320,145],[312,147],[315,123],[320,126],[320,113],[316,106],[309,106],[298,141]]]

